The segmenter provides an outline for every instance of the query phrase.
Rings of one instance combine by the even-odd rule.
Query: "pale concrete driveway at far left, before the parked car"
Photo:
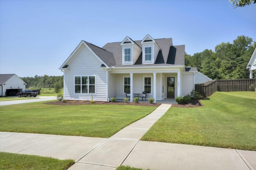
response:
[[[17,100],[13,100],[13,99],[16,99],[16,97],[10,98],[10,101],[8,101],[8,100],[0,101],[0,106],[16,105],[16,104],[22,104],[22,103],[32,103],[32,102],[38,102],[38,101],[56,100],[57,97],[56,96],[37,96],[37,97],[31,97],[31,99],[17,99]]]

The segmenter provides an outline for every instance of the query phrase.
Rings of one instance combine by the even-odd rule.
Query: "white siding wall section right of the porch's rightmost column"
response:
[[[183,73],[182,74],[182,96],[186,96],[190,94],[190,92],[194,90],[194,73]]]

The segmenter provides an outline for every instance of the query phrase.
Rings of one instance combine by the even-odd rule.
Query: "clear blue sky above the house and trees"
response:
[[[102,47],[149,34],[193,55],[237,36],[256,41],[255,18],[255,4],[234,9],[228,0],[0,0],[0,73],[63,75],[81,40]]]

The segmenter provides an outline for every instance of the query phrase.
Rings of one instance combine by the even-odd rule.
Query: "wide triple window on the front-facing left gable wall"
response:
[[[95,93],[95,77],[76,76],[75,93]]]

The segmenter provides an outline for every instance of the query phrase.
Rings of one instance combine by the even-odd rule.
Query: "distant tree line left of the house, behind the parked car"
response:
[[[40,88],[55,88],[56,86],[63,88],[63,75],[62,76],[38,76],[35,77],[20,77],[25,83],[26,88],[40,89]]]

